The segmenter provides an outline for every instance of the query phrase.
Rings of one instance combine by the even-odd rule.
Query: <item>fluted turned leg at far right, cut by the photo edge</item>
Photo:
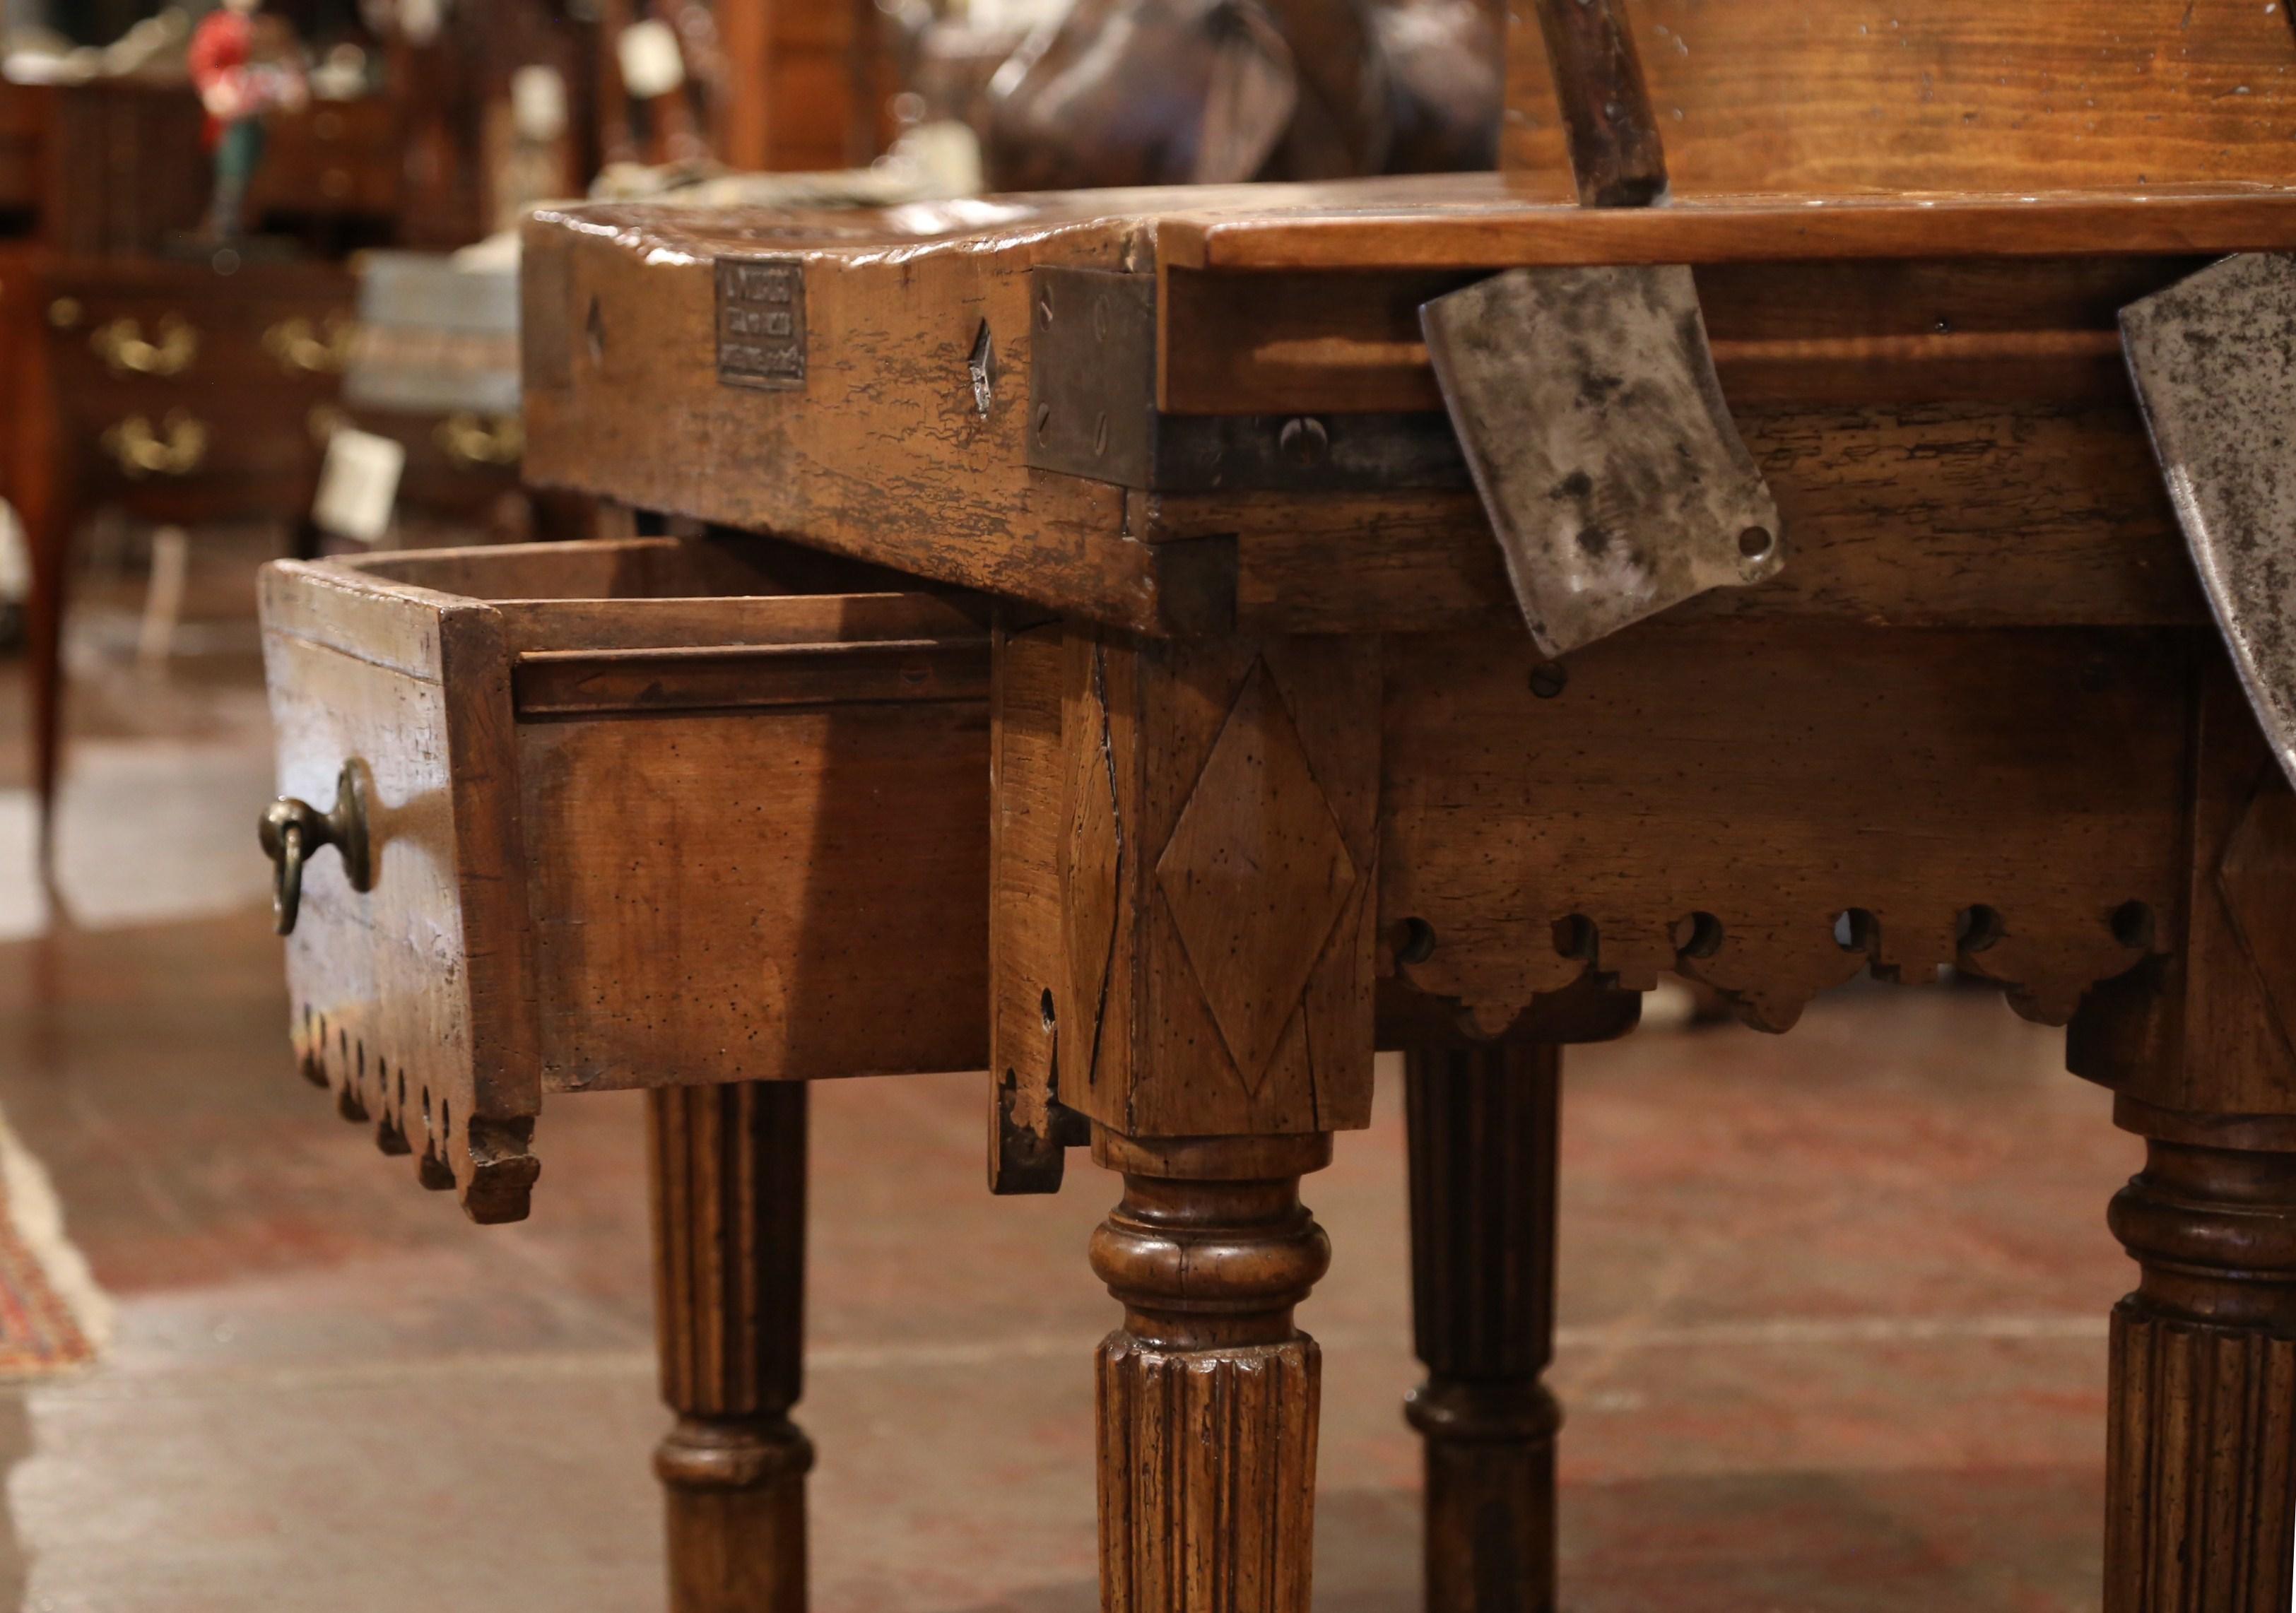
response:
[[[2149,1140],[2112,1232],[2105,1613],[2287,1613],[2296,1154]]]

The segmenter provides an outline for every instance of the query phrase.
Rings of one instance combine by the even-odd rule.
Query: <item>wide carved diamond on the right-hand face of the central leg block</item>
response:
[[[1155,867],[1228,1055],[1258,1092],[1357,867],[1256,663]]]

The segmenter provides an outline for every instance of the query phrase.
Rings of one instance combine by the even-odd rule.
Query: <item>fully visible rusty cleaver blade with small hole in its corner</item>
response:
[[[1543,654],[1784,564],[1690,268],[1508,268],[1419,324]]]

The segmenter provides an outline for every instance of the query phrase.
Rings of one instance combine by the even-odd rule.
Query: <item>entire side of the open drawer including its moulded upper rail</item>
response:
[[[510,622],[544,1092],[978,1069],[980,629],[921,594],[604,610]]]

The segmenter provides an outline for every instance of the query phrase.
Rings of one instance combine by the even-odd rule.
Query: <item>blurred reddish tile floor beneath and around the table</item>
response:
[[[0,1108],[119,1301],[103,1370],[0,1390],[0,1604],[657,1608],[638,1104],[553,1101],[535,1216],[491,1230],[338,1122],[287,1067],[253,906],[253,693],[204,681],[80,746],[80,925],[28,899],[0,789],[0,909],[37,932],[0,943]],[[1984,993],[1853,989],[1786,1039],[1573,1058],[1566,1606],[2096,1606],[2103,1319],[2131,1271],[2103,1207],[2135,1150],[2060,1053]],[[817,1090],[822,1613],[1095,1606],[1114,1308],[1084,1237],[1114,1191],[1077,1159],[1061,1198],[990,1200],[983,1097]],[[1322,1613],[1417,1606],[1396,1097],[1309,1182],[1336,1248],[1302,1312]]]

